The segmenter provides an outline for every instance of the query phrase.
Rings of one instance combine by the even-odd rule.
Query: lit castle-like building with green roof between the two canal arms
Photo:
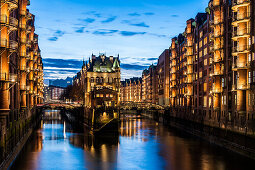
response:
[[[119,57],[92,55],[90,61],[74,78],[84,93],[84,105],[88,108],[116,107],[120,102]]]

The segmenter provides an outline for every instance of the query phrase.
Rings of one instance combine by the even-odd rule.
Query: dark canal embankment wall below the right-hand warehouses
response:
[[[146,111],[142,115],[170,128],[202,138],[211,144],[255,159],[255,135],[172,117],[168,111]]]

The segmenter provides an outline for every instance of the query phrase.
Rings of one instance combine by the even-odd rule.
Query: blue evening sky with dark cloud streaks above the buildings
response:
[[[31,0],[45,79],[74,76],[92,53],[120,54],[122,78],[156,63],[209,0]]]

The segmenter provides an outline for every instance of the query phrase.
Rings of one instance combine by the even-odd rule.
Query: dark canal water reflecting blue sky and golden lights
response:
[[[155,121],[125,117],[118,136],[93,138],[47,110],[10,169],[247,170],[255,161]]]

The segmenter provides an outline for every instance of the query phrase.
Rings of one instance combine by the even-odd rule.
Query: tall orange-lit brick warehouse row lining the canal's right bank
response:
[[[170,46],[172,115],[252,129],[254,2],[211,0]]]

